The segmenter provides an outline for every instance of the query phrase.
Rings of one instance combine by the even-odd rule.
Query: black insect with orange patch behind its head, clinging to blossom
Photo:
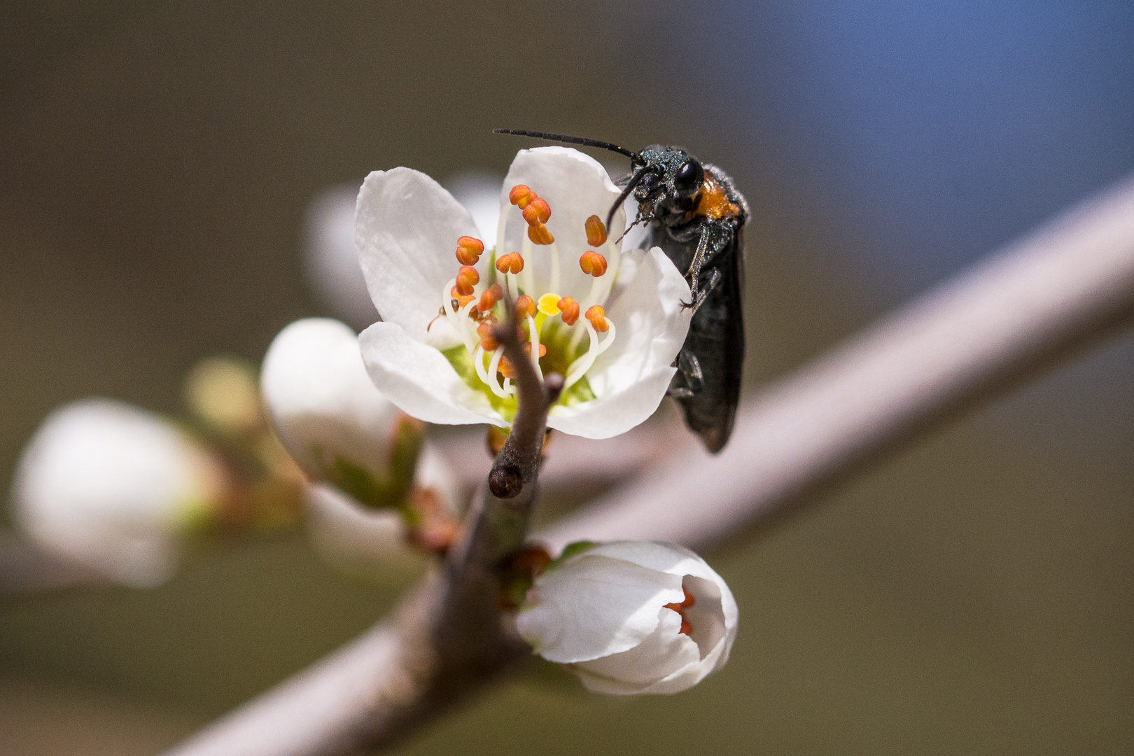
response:
[[[716,165],[700,162],[680,147],[649,146],[632,152],[609,142],[560,134],[496,129],[617,152],[631,159],[631,172],[619,182],[621,195],[607,215],[634,194],[634,224],[648,223],[648,246],[661,247],[677,270],[685,271],[693,308],[685,345],[677,355],[677,374],[669,396],[685,413],[685,424],[709,451],[728,443],[741,397],[744,365],[744,243],[748,203],[733,179]]]

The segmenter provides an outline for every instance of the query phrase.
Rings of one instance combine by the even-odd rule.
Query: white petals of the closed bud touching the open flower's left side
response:
[[[400,413],[374,388],[349,326],[308,317],[285,328],[264,356],[261,390],[280,440],[313,479],[336,458],[386,476]]]

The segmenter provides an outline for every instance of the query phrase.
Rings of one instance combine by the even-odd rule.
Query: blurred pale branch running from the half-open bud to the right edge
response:
[[[745,404],[717,457],[677,464],[538,535],[705,549],[1034,377],[1134,317],[1134,177],[929,291]]]

